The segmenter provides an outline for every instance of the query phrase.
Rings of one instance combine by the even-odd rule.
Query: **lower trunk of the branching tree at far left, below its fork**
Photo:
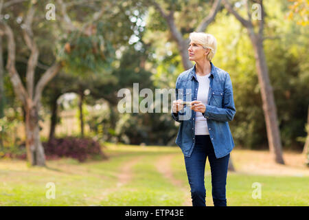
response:
[[[38,127],[38,109],[26,107],[26,149],[27,159],[32,166],[45,166],[45,153],[40,140],[40,129]]]

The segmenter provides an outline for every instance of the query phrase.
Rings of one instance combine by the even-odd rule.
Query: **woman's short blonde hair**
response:
[[[211,34],[206,34],[204,32],[192,32],[190,33],[190,41],[192,43],[201,44],[205,49],[209,48],[209,54],[207,54],[207,60],[211,61],[214,58],[217,50],[217,40]]]

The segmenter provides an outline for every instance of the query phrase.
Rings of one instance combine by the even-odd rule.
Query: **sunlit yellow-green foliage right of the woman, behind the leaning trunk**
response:
[[[302,148],[297,137],[305,136],[304,124],[309,103],[308,94],[308,29],[282,19],[284,3],[266,2],[264,51],[271,79],[279,129],[284,148]],[[280,6],[281,5],[281,6]],[[230,25],[233,23],[233,25]],[[236,145],[249,148],[266,147],[266,125],[262,111],[260,85],[255,69],[255,58],[247,30],[225,11],[207,32],[214,34],[218,50],[214,65],[231,75],[236,115],[230,123]],[[220,34],[218,34],[220,33]],[[307,37],[308,39],[308,37]]]

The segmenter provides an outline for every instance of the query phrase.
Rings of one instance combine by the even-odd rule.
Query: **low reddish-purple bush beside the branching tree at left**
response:
[[[106,159],[99,142],[90,138],[64,137],[54,138],[43,143],[46,159],[72,157],[84,162],[86,159]]]

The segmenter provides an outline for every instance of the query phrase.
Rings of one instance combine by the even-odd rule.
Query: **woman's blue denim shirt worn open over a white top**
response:
[[[228,155],[234,147],[228,122],[233,120],[236,108],[229,74],[211,63],[209,80],[208,103],[203,115],[207,120],[216,158],[220,158]],[[196,79],[196,65],[194,65],[178,76],[176,100],[191,102],[196,100],[197,92],[198,80]],[[196,112],[186,106],[178,113],[172,113],[172,118],[181,123],[175,143],[181,148],[185,157],[191,156],[195,144],[195,115]]]

